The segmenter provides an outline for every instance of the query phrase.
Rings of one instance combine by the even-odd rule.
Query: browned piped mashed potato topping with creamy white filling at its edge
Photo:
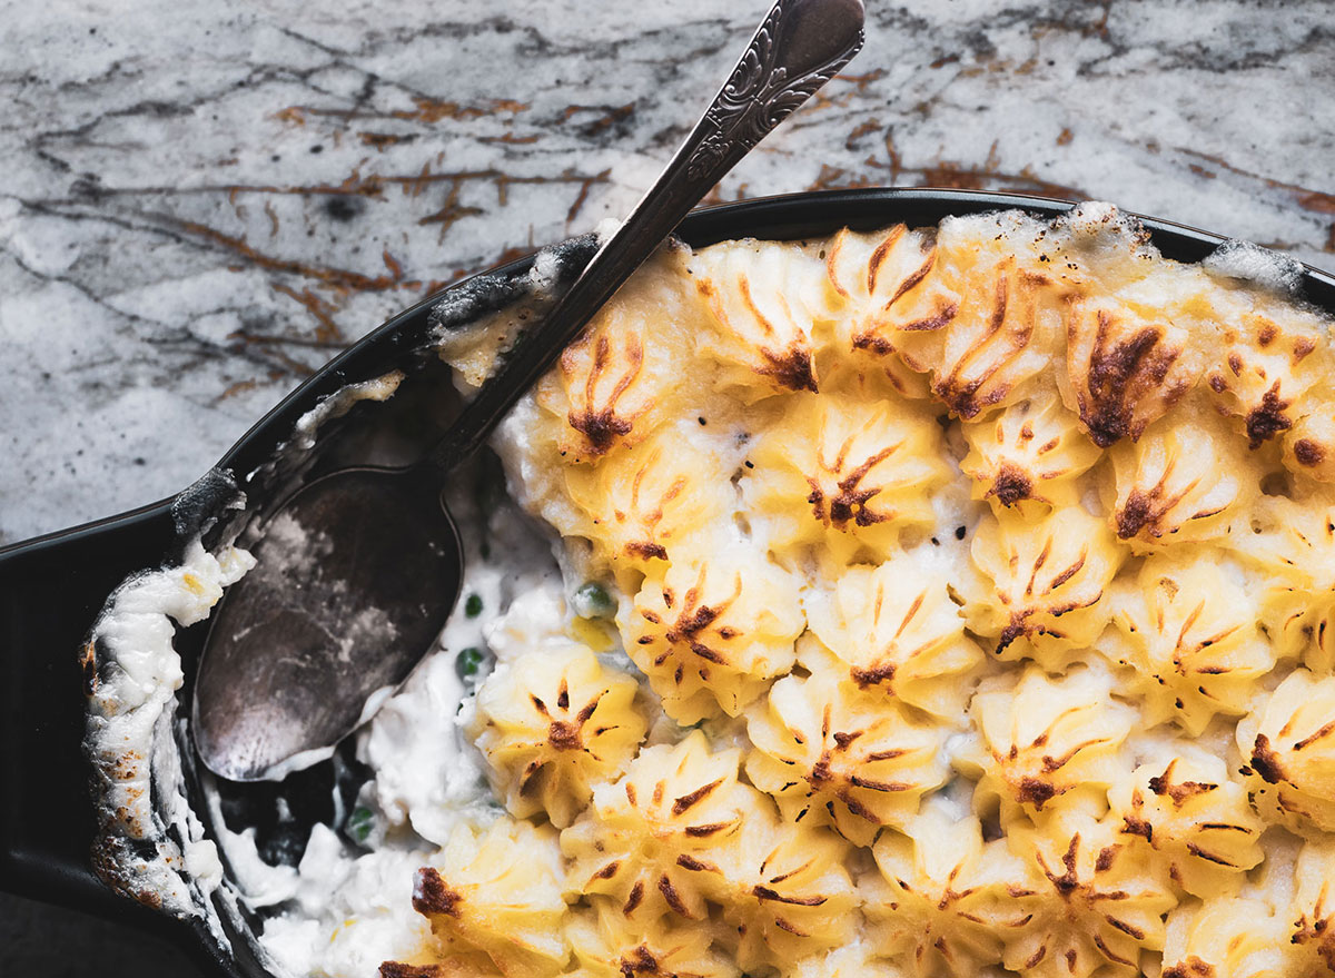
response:
[[[1335,974],[1335,363],[1290,278],[1103,204],[665,249],[495,437],[557,561],[474,552],[347,824],[236,870],[264,946]],[[445,342],[461,386],[511,326]]]

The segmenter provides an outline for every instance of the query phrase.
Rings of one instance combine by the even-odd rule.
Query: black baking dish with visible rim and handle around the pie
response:
[[[693,246],[728,238],[789,239],[825,235],[841,226],[870,228],[894,222],[934,224],[952,214],[1023,208],[1052,216],[1068,208],[1057,200],[969,191],[866,190],[802,194],[728,204],[693,214],[680,235]],[[1168,222],[1143,219],[1153,243],[1168,258],[1199,261],[1223,239]],[[558,255],[569,277],[591,251],[589,239],[574,239]],[[0,884],[81,910],[93,910],[158,929],[192,949],[218,974],[260,975],[262,961],[250,941],[256,923],[224,888],[207,902],[207,913],[172,918],[151,913],[160,894],[131,890],[132,901],[111,892],[92,872],[96,859],[103,875],[116,878],[125,852],[91,852],[96,835],[96,808],[88,794],[89,768],[80,752],[84,734],[81,691],[95,680],[96,655],[81,652],[85,636],[112,589],[128,575],[179,560],[182,548],[200,533],[206,542],[244,533],[250,521],[283,498],[303,478],[338,464],[355,445],[359,430],[386,424],[413,406],[414,391],[439,390],[443,367],[431,353],[438,329],[457,329],[473,319],[526,298],[531,259],[454,286],[447,293],[395,317],[302,385],[266,416],[195,486],[134,513],[52,534],[0,552],[0,635],[11,681],[4,711],[7,795]],[[1335,311],[1335,278],[1304,273],[1306,298]],[[298,421],[350,383],[392,370],[407,374],[400,391],[386,405],[359,406],[326,425],[308,444],[294,436]],[[336,412],[327,412],[335,414]],[[447,418],[438,418],[445,424]],[[409,440],[411,441],[411,438]],[[409,461],[405,457],[402,461]],[[230,508],[244,492],[246,505]],[[187,687],[203,629],[183,631],[176,641]],[[83,664],[83,665],[81,665]],[[184,727],[179,744],[188,744]],[[208,823],[202,775],[184,764],[187,799]],[[231,804],[260,807],[282,794],[298,814],[298,823],[324,818],[322,795],[336,790],[334,774],[315,768],[283,786],[260,786],[234,792]],[[155,798],[154,804],[164,804]],[[287,842],[299,855],[300,839]],[[271,851],[282,851],[275,839]],[[132,854],[129,854],[132,855]]]

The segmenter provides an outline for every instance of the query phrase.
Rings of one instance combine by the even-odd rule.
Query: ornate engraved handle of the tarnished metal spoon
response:
[[[465,408],[430,462],[471,454],[561,350],[653,254],[701,198],[852,60],[862,47],[862,0],[778,0],[658,182],[543,321],[510,350]]]

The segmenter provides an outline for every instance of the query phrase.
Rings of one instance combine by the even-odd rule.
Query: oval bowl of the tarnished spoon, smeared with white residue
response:
[[[422,466],[343,469],[304,486],[254,556],[195,683],[199,756],[238,782],[304,767],[356,727],[368,697],[431,648],[463,580],[459,530]]]

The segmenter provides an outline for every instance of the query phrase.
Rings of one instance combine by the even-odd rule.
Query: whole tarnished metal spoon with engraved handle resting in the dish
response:
[[[407,677],[459,595],[454,468],[701,198],[862,47],[862,0],[778,0],[682,147],[621,230],[407,469],[344,469],[294,494],[228,589],[195,683],[204,764],[232,780],[318,759]],[[304,755],[304,756],[303,756]]]

